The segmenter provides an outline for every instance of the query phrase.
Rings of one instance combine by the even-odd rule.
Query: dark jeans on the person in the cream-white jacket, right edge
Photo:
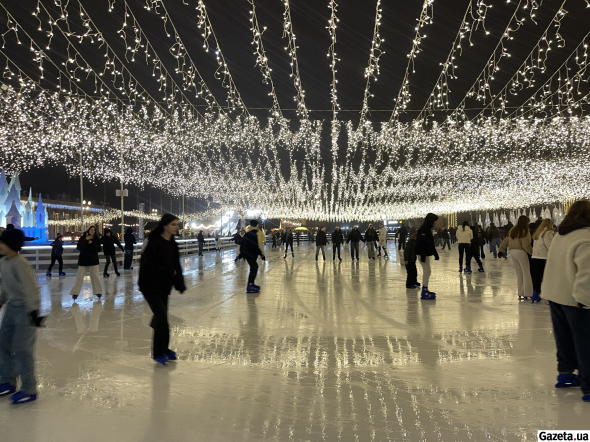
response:
[[[549,301],[557,347],[557,371],[579,372],[582,392],[590,394],[590,310]]]

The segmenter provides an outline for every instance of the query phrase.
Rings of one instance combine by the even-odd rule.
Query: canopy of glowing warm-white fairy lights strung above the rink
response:
[[[124,53],[114,49],[82,0],[39,0],[31,11],[38,21],[35,34],[17,21],[11,3],[1,3],[2,167],[18,173],[61,164],[72,176],[151,185],[215,200],[228,210],[255,210],[265,218],[408,219],[427,212],[515,209],[590,197],[590,115],[585,112],[590,104],[590,10],[588,33],[573,51],[562,36],[566,3],[588,0],[559,0],[561,6],[541,38],[504,85],[495,83],[495,75],[512,56],[510,47],[519,41],[519,33],[538,26],[535,14],[546,6],[536,0],[509,0],[514,13],[504,32],[494,37],[486,27],[492,0],[466,0],[465,15],[428,100],[411,121],[402,121],[416,111],[413,105],[420,105],[412,100],[415,60],[423,52],[437,6],[436,0],[425,0],[417,11],[401,87],[392,91],[391,118],[380,123],[370,120],[371,87],[386,56],[382,9],[392,7],[384,5],[391,2],[363,2],[374,10],[374,31],[359,97],[360,119],[353,122],[340,118],[338,4],[325,0],[322,7],[330,12],[325,41],[332,79],[326,89],[332,103],[329,124],[309,117],[290,0],[280,2],[299,121],[287,119],[279,103],[273,79],[284,73],[271,68],[266,28],[256,12],[259,0],[242,0],[250,6],[244,25],[252,34],[252,62],[262,76],[260,94],[268,96],[264,123],[238,91],[234,76],[239,71],[223,55],[205,1],[183,4],[197,23],[203,51],[216,59],[214,79],[202,77],[200,54],[189,53],[183,40],[194,34],[181,35],[163,0],[146,0],[144,8],[161,18],[158,32],[169,44],[173,65],[156,52],[131,1],[104,0],[113,20],[122,20],[117,37],[124,41]],[[154,32],[150,30],[150,38]],[[462,63],[469,63],[461,59],[463,47],[473,45],[476,33],[495,38],[497,45],[460,104],[450,107],[452,84]],[[26,65],[11,55],[19,45],[30,54]],[[556,53],[565,62],[548,72]],[[103,60],[102,69],[92,68],[89,57]],[[154,84],[137,80],[132,73],[137,65],[150,71]],[[540,75],[546,79],[542,85],[536,81]],[[206,81],[221,82],[227,96],[215,96]],[[527,94],[523,104],[509,105],[519,93]],[[475,117],[466,112],[473,100],[481,105]],[[440,111],[445,118],[437,121]],[[320,145],[328,126],[331,146],[326,153]]]

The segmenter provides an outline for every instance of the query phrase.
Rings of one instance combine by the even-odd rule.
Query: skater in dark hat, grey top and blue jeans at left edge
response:
[[[2,290],[0,309],[5,305],[0,326],[0,397],[12,394],[12,403],[37,399],[35,335],[39,316],[39,285],[33,267],[19,253],[24,244],[21,230],[5,230],[0,236]],[[17,392],[17,378],[21,387]]]

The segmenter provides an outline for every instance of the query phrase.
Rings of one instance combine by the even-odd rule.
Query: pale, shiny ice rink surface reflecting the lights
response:
[[[302,244],[285,260],[269,247],[257,295],[233,251],[184,259],[168,367],[150,359],[137,269],[103,279],[102,302],[87,278],[73,303],[73,270],[40,276],[40,396],[0,399],[0,440],[530,441],[590,429],[581,391],[554,388],[547,302],[517,300],[510,260],[488,254],[485,273],[464,275],[457,248],[440,251],[437,299],[421,301],[394,244],[389,260],[328,253],[316,262]]]

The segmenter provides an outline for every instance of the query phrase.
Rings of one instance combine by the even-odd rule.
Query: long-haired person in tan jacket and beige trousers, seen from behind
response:
[[[528,216],[522,215],[518,218],[516,225],[510,229],[508,236],[500,244],[498,252],[498,257],[501,258],[506,252],[506,248],[510,249],[510,256],[512,257],[518,283],[518,299],[533,298],[533,280],[528,256],[533,254],[529,223]],[[540,300],[539,296],[533,298],[533,302],[539,302]]]

